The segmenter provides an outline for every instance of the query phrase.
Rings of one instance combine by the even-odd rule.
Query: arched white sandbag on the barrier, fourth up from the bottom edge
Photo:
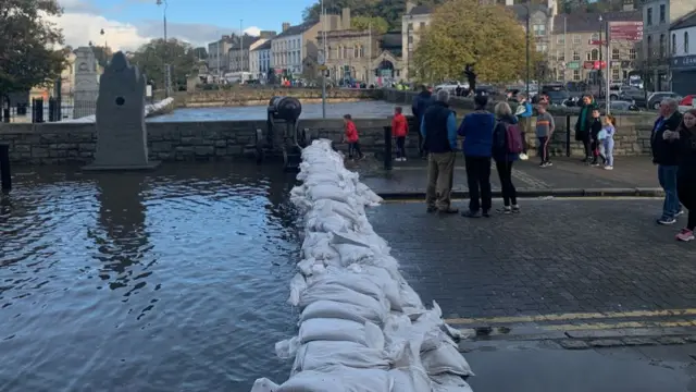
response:
[[[376,299],[338,284],[320,284],[307,287],[301,293],[297,306],[300,307],[300,310],[304,310],[309,304],[318,301],[335,301],[357,305],[370,309],[371,313],[384,315],[381,318],[386,318],[389,311],[389,302],[386,298]]]

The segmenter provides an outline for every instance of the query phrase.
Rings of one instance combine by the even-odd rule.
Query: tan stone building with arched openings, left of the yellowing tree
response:
[[[328,76],[337,84],[362,82],[372,84],[376,77],[399,79],[401,77],[400,33],[378,34],[371,29],[352,28],[350,9],[341,10],[340,15],[332,16],[336,22],[320,33],[320,48],[326,48],[325,65]],[[396,47],[395,47],[396,44]],[[382,81],[382,79],[380,79]]]

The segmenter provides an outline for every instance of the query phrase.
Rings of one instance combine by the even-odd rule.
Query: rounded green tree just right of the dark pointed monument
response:
[[[197,62],[194,48],[175,38],[166,41],[162,38],[152,39],[149,44],[141,46],[130,59],[130,63],[137,64],[157,88],[164,86],[164,64],[171,64],[174,90],[186,88],[186,76],[192,72],[198,73]]]

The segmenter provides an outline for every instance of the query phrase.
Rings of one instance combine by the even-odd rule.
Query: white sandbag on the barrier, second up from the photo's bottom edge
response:
[[[291,375],[299,371],[321,370],[341,365],[358,369],[389,370],[391,359],[383,350],[369,348],[353,342],[309,342],[302,345],[295,357]]]

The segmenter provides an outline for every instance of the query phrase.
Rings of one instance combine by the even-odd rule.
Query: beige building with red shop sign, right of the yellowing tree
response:
[[[632,8],[632,4],[630,4]],[[629,4],[626,4],[629,9]],[[600,21],[601,16],[601,21]],[[612,39],[607,47],[607,23],[642,22],[641,11],[556,15],[549,41],[549,77],[558,82],[621,82],[636,72],[638,44]],[[601,40],[600,40],[601,36]],[[608,65],[608,66],[607,66]]]

